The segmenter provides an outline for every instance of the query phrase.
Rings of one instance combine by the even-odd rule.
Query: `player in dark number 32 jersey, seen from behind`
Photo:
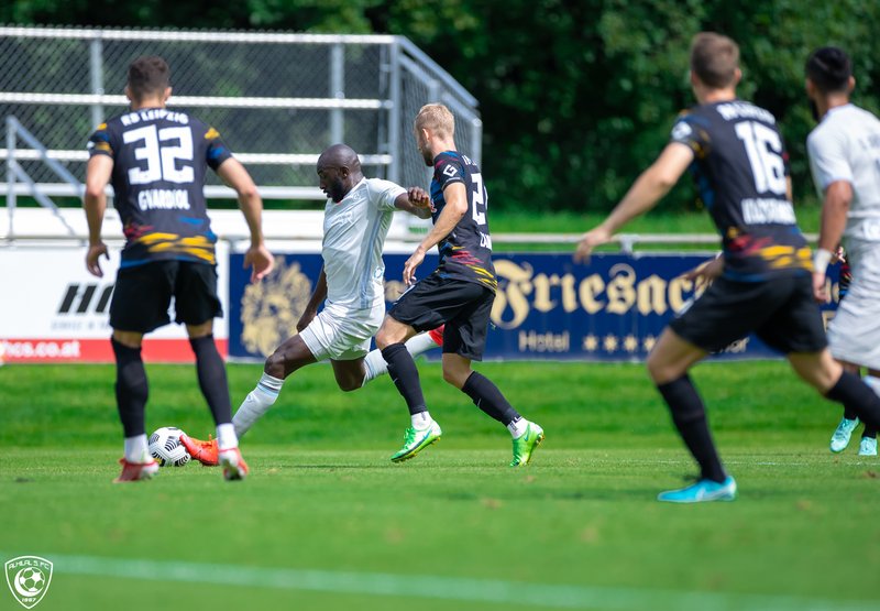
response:
[[[213,318],[222,309],[215,269],[217,237],[202,190],[208,166],[239,195],[251,232],[244,261],[253,266],[252,281],[273,266],[263,243],[263,204],[248,171],[232,159],[217,130],[165,108],[172,92],[168,76],[168,65],[161,57],[135,59],[125,87],[131,111],[100,124],[88,145],[89,272],[102,276],[99,261],[108,257],[101,241],[108,183],[113,185],[127,239],[110,305],[117,405],[125,435],[122,474],[116,481],[150,479],[158,469],[147,451],[144,429],[148,386],[141,342],[144,334],[169,323],[172,297],[176,321],[186,325],[199,386],[217,424],[223,474],[242,479],[248,465],[238,448],[226,367],[213,341]]]

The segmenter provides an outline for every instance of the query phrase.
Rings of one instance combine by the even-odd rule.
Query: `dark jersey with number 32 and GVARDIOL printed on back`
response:
[[[111,184],[127,238],[122,268],[217,262],[202,190],[207,167],[216,171],[231,156],[217,130],[184,112],[146,108],[98,126],[88,149],[90,156],[113,159]]]

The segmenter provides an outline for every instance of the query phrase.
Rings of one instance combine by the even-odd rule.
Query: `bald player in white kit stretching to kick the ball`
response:
[[[329,359],[339,388],[346,392],[387,371],[378,350],[367,353],[385,316],[382,249],[395,209],[430,218],[430,198],[419,187],[407,192],[389,181],[365,178],[358,154],[344,144],[321,153],[317,171],[321,190],[328,196],[323,269],[297,323],[298,335],[266,359],[260,382],[232,417],[239,437],[272,407],[284,380],[307,364]],[[318,313],[321,303],[324,308]],[[442,329],[411,338],[407,349],[418,356],[440,343]],[[186,435],[180,440],[202,465],[217,463],[216,440]]]

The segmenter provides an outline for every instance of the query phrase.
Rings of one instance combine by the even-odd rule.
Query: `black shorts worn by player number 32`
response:
[[[223,315],[213,265],[154,261],[119,270],[110,303],[110,326],[146,334],[167,325],[172,297],[176,323],[201,325]]]

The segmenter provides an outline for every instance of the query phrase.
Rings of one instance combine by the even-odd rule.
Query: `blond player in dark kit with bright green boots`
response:
[[[446,106],[419,110],[416,142],[425,163],[433,167],[430,206],[433,228],[404,264],[411,287],[388,310],[376,334],[376,346],[388,363],[397,390],[409,407],[411,426],[395,462],[416,456],[440,438],[419,383],[419,373],[404,342],[419,331],[446,325],[443,379],[461,390],[483,412],[503,423],[514,437],[512,467],[528,465],[543,439],[543,429],[522,418],[487,378],[471,369],[483,358],[497,281],[492,265],[492,238],[486,219],[486,188],[480,168],[455,150],[455,121]],[[435,246],[440,262],[416,282],[416,268]]]

